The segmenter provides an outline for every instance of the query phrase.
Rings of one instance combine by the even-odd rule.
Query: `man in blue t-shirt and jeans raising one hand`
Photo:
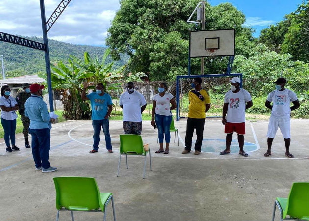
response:
[[[93,135],[93,149],[89,153],[98,152],[100,142],[101,127],[105,135],[106,149],[108,153],[112,153],[112,145],[109,135],[109,120],[108,117],[113,109],[112,99],[109,94],[104,93],[103,83],[98,83],[96,86],[96,92],[92,92],[86,95],[86,89],[88,83],[83,83],[83,90],[81,93],[81,99],[90,100],[92,109],[92,127],[94,130]]]

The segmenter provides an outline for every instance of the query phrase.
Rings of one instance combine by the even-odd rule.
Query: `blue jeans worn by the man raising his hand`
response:
[[[98,150],[99,149],[99,142],[100,142],[100,131],[101,127],[103,129],[103,133],[105,135],[105,143],[106,143],[106,149],[111,150],[113,147],[110,142],[110,135],[109,135],[109,120],[103,119],[103,120],[93,120],[92,121],[92,127],[94,130],[93,135],[93,149]]]

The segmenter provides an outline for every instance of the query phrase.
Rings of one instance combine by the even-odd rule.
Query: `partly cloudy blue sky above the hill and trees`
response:
[[[301,0],[208,0],[213,6],[227,1],[246,15],[244,25],[255,28],[256,37],[261,29],[281,21],[301,3]],[[59,2],[45,0],[47,19]],[[119,8],[119,0],[72,0],[48,37],[72,44],[104,45],[107,28]],[[39,0],[0,0],[0,31],[42,37]]]

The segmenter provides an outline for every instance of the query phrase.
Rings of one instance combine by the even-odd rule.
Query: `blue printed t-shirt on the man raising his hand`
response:
[[[92,120],[103,120],[108,111],[108,105],[112,105],[112,99],[109,94],[104,93],[103,96],[92,92],[87,95],[91,102]]]

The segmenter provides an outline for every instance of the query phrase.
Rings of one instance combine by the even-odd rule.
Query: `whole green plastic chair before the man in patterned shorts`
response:
[[[143,179],[145,179],[146,173],[146,158],[147,153],[149,152],[149,162],[150,162],[150,171],[151,171],[151,155],[150,155],[150,148],[148,151],[144,150],[142,136],[135,135],[135,134],[121,134],[120,136],[120,156],[118,161],[118,170],[117,176],[119,176],[119,168],[120,168],[120,161],[121,155],[126,155],[126,166],[128,169],[128,160],[127,155],[140,155],[145,156],[145,164],[144,164],[144,175]]]

